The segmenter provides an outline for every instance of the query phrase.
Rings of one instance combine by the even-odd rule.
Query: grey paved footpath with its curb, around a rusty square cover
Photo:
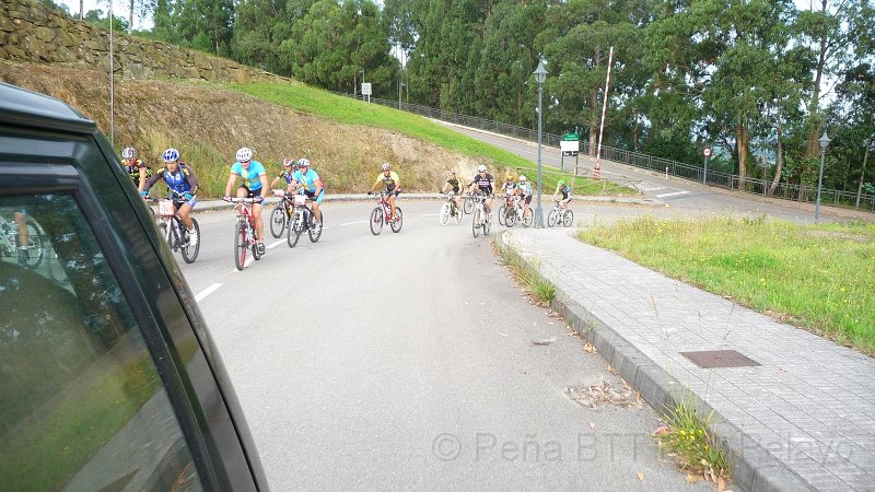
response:
[[[875,491],[874,359],[572,233],[511,230],[499,243],[557,285],[555,308],[654,408],[686,399],[702,415],[714,410],[735,488]],[[702,368],[681,354],[716,350],[759,365]]]

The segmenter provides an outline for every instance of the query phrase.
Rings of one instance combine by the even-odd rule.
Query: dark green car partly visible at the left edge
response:
[[[0,483],[267,490],[197,302],[97,125],[0,84]]]

